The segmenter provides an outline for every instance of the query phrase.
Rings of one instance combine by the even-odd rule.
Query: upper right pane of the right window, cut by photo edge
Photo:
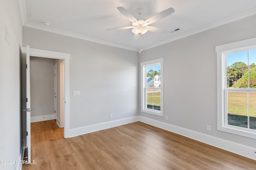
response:
[[[250,88],[256,88],[256,50],[250,52]],[[248,79],[248,78],[247,78]]]

